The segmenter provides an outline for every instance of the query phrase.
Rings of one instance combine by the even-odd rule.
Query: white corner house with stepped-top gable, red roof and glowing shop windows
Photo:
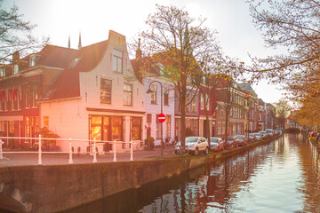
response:
[[[41,126],[60,138],[141,141],[144,136],[145,87],[135,76],[125,36],[112,30],[108,40],[78,50],[68,67],[41,98]],[[68,141],[57,144],[68,151]],[[89,142],[74,142],[75,151]],[[99,146],[99,151],[112,146]],[[129,150],[118,144],[117,150]]]

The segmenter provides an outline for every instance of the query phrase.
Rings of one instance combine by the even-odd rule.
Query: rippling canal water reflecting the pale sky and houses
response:
[[[68,212],[320,212],[318,151],[302,135],[286,134]]]

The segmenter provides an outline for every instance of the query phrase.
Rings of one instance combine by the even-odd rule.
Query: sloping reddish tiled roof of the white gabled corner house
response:
[[[44,91],[41,100],[69,99],[80,96],[79,73],[97,67],[107,50],[108,40],[76,50],[76,54]]]

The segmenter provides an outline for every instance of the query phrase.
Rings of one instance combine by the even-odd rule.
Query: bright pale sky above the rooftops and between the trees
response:
[[[77,48],[79,32],[82,46],[108,39],[110,29],[126,36],[127,42],[146,29],[148,14],[156,4],[174,5],[189,12],[190,17],[203,17],[205,25],[218,31],[222,51],[229,57],[250,64],[252,56],[266,57],[275,50],[266,49],[260,31],[252,24],[245,0],[4,0],[4,7],[16,4],[24,20],[37,27],[34,35],[50,36],[50,43]],[[274,103],[283,99],[279,85],[263,81],[252,85],[260,99]]]

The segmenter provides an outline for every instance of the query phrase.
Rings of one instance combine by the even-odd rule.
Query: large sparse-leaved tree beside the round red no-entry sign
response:
[[[148,72],[150,66],[157,67],[176,91],[181,110],[181,146],[185,146],[186,106],[195,99],[203,75],[199,62],[204,55],[213,59],[220,49],[216,32],[204,27],[204,21],[190,18],[188,12],[177,7],[156,5],[156,12],[146,21],[149,29],[140,32],[140,47],[149,56],[145,57],[147,65],[140,65],[140,73]]]

